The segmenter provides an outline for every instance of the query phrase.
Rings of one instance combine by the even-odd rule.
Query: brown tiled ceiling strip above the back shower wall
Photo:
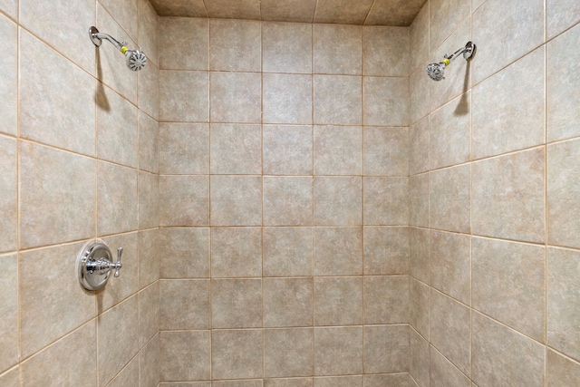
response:
[[[427,0],[150,0],[160,16],[410,25]]]

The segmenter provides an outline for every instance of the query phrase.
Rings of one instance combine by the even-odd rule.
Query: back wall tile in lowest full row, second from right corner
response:
[[[362,326],[314,328],[314,374],[353,375],[362,373]],[[336,386],[314,380],[316,387]],[[353,383],[345,384],[353,386]]]

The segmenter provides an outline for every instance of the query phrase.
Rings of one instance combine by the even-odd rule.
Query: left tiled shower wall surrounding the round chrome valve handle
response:
[[[157,25],[146,0],[0,1],[3,387],[159,384]],[[74,267],[95,237],[124,247],[96,294]]]

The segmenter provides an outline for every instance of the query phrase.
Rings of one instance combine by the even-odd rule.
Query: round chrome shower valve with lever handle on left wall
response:
[[[99,290],[107,284],[111,271],[120,276],[123,247],[117,249],[117,262],[113,263],[111,249],[101,240],[84,244],[77,256],[76,269],[79,282],[87,290]]]

